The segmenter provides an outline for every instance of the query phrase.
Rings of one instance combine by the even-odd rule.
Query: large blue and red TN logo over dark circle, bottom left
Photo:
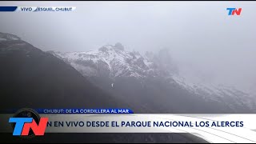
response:
[[[25,109],[18,111],[9,122],[14,129],[13,135],[31,138],[45,134],[48,118],[40,118],[35,110]]]

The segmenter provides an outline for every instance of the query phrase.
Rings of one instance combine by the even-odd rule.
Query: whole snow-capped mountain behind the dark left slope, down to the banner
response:
[[[252,95],[232,86],[186,82],[168,49],[126,51],[121,43],[87,52],[54,52],[96,86],[143,113],[254,113]]]

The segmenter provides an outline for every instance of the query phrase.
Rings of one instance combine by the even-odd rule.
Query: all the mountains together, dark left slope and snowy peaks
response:
[[[13,34],[0,37],[4,107],[121,106],[134,113],[253,113],[256,107],[250,94],[233,87],[186,82],[168,49],[142,55],[118,42],[44,52]]]

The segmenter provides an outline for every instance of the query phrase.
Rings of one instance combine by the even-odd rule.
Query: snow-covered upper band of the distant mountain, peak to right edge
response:
[[[209,102],[226,102],[227,106],[249,107],[255,109],[255,98],[234,87],[206,83],[189,82],[186,76],[178,74],[178,66],[172,62],[168,50],[160,50],[158,54],[124,50],[122,44],[102,46],[98,50],[88,52],[54,52],[58,58],[70,63],[82,75],[105,78],[164,78],[180,86],[183,90],[197,95]]]

